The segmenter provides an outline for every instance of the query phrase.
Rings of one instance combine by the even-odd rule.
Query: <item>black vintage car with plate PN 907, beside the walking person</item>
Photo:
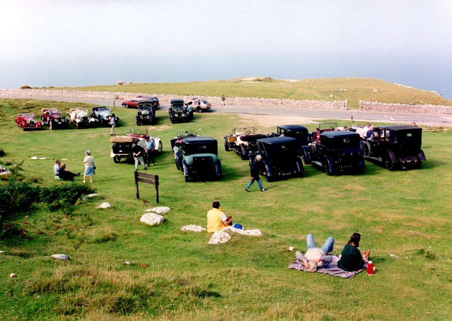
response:
[[[267,182],[301,176],[304,168],[300,156],[297,156],[297,140],[295,138],[262,138],[257,140],[257,145],[256,152],[248,154],[250,166],[254,157],[260,154],[265,166]]]

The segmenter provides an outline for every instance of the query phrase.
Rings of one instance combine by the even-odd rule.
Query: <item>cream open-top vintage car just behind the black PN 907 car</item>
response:
[[[257,150],[256,141],[267,135],[255,134],[255,127],[237,127],[231,135],[224,136],[224,149],[234,150],[242,159],[249,159],[248,154]]]

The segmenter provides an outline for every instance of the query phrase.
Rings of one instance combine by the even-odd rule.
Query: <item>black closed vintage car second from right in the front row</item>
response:
[[[360,173],[366,169],[360,149],[360,135],[352,131],[325,131],[316,143],[303,146],[304,163],[313,163],[327,175]]]

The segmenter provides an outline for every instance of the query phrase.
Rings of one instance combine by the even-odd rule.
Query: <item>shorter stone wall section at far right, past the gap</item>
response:
[[[430,113],[446,115],[452,114],[452,106],[391,104],[378,101],[363,101],[363,100],[360,100],[360,110],[403,112],[417,114],[430,114]]]

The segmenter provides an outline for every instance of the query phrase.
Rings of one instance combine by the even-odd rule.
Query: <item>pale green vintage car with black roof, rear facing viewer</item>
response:
[[[221,162],[218,158],[217,141],[211,137],[187,137],[176,141],[176,168],[184,174],[185,182],[190,177],[218,180],[221,177]]]

